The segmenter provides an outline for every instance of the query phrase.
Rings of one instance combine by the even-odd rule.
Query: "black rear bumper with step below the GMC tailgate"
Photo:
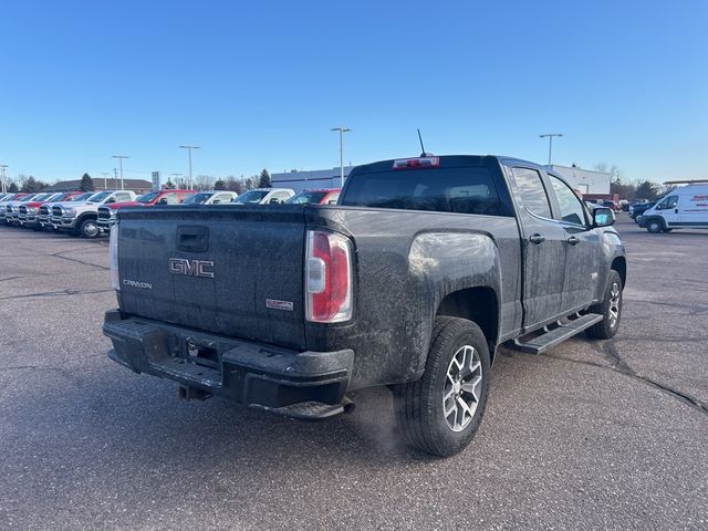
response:
[[[106,312],[108,357],[136,373],[173,379],[249,406],[340,404],[354,352],[298,352]],[[190,348],[191,347],[191,348]]]

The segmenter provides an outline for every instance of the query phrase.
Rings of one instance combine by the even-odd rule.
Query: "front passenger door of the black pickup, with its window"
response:
[[[563,313],[584,309],[593,302],[597,283],[604,281],[600,264],[601,235],[590,228],[585,207],[573,190],[560,178],[549,174],[556,202],[555,219],[565,231],[565,283]]]

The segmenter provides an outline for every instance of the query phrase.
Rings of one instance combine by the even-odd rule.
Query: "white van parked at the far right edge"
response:
[[[649,232],[708,229],[708,183],[676,188],[642,215],[639,227]]]

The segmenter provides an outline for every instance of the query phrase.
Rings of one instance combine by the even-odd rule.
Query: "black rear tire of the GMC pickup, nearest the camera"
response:
[[[470,346],[472,351],[465,348]],[[446,403],[445,395],[455,393],[452,385],[458,385],[450,383],[454,378],[448,379],[448,371],[457,368],[457,365],[452,366],[456,354],[458,360],[460,355],[469,354],[470,366],[476,365],[478,361],[481,368],[480,372],[475,369],[467,373],[470,378],[467,383],[464,378],[458,379],[459,385],[471,386],[473,389],[471,393],[458,387],[459,398],[458,395],[454,395]],[[462,371],[460,376],[464,377]],[[471,383],[477,381],[477,377],[481,381],[477,384]],[[485,415],[489,378],[489,347],[480,327],[466,319],[436,317],[423,377],[416,382],[399,385],[394,392],[396,418],[404,440],[426,454],[438,457],[454,456],[464,450],[475,437]],[[446,386],[450,388],[446,389]],[[460,399],[476,404],[469,418],[469,409],[458,407]],[[445,415],[445,407],[450,404],[456,412],[454,419],[451,414],[447,417]],[[462,413],[462,420],[457,426],[458,430],[455,430],[448,423],[457,423],[458,412]]]

